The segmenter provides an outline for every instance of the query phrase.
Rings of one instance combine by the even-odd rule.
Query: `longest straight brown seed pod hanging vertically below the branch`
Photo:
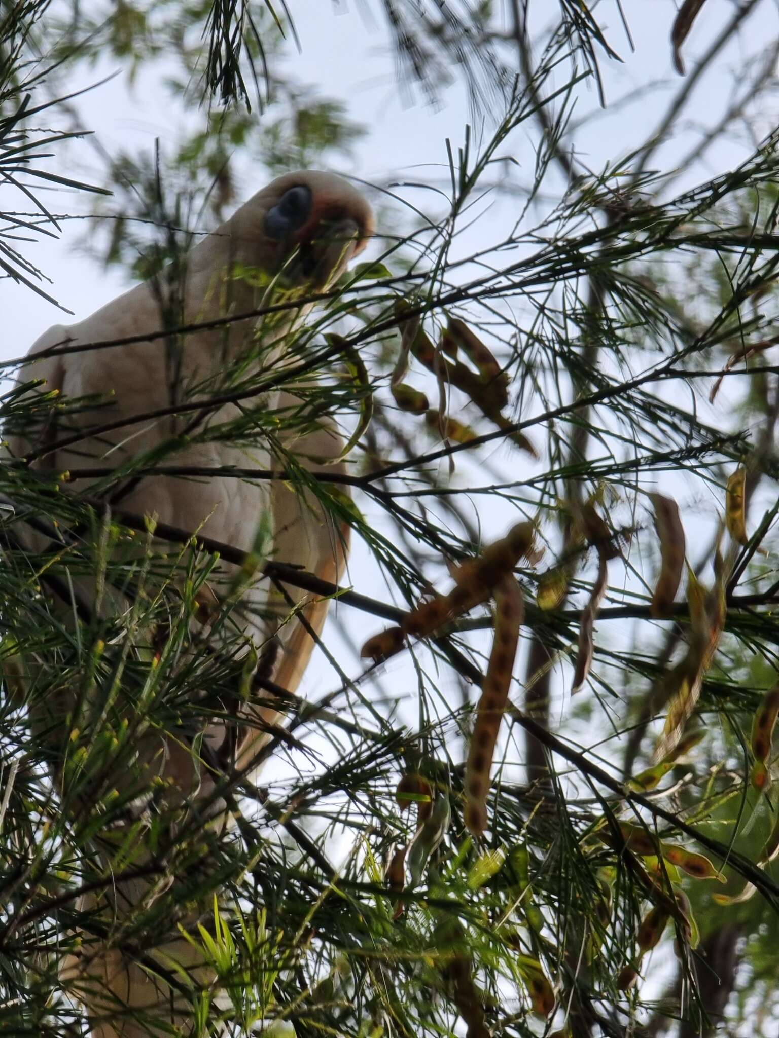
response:
[[[519,640],[525,603],[514,577],[495,588],[495,633],[477,707],[476,725],[465,764],[465,825],[475,836],[487,826],[487,791],[492,755],[506,709]]]

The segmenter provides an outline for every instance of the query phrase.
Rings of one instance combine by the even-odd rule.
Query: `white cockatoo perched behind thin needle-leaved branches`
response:
[[[285,391],[271,386],[243,407],[241,402],[229,402],[217,409],[198,411],[182,405],[220,392],[226,394],[239,379],[243,380],[240,385],[246,385],[246,380],[266,374],[272,378],[274,371],[281,370],[288,360],[286,345],[301,317],[311,310],[311,303],[280,310],[270,307],[272,312],[230,324],[219,323],[219,319],[262,308],[271,298],[269,284],[281,284],[281,298],[293,303],[311,293],[321,293],[365,247],[373,229],[368,202],[341,177],[318,171],[279,176],[185,257],[183,274],[177,281],[180,326],[214,321],[214,327],[159,335],[161,330],[168,330],[160,307],[160,285],[166,276],[163,271],[156,285],[138,284],[84,321],[56,325],[38,338],[20,375],[22,382],[42,379],[39,391],[56,389],[63,400],[95,395],[107,405],[97,410],[69,411],[66,425],[61,419],[58,425],[57,409],[52,408],[50,416],[36,427],[37,433],[28,430],[9,437],[7,449],[14,463],[32,459],[38,467],[81,470],[80,477],[72,483],[74,493],[87,491],[93,482],[84,474],[85,469],[115,468],[128,459],[159,450],[163,444],[172,445],[162,459],[166,465],[200,469],[283,467],[262,427],[254,437],[244,432],[240,442],[226,439],[223,427],[245,416],[247,406],[257,408],[258,400],[267,411],[284,412],[286,408],[289,413],[300,403],[294,385]],[[277,300],[278,296],[272,298]],[[145,333],[157,335],[144,339]],[[56,349],[127,338],[133,340],[84,352],[58,353]],[[298,355],[296,362],[300,359]],[[236,368],[239,375],[233,377]],[[177,413],[177,407],[182,408],[181,413]],[[162,413],[155,416],[153,412]],[[135,420],[139,415],[147,417]],[[113,429],[105,428],[112,424]],[[203,435],[204,430],[212,429],[213,439]],[[192,440],[194,432],[198,434],[196,442],[188,442],[182,435],[189,434]],[[331,420],[322,420],[318,426],[308,424],[305,433],[297,438],[289,433],[286,439],[284,433],[276,435],[285,449],[310,470],[343,472],[343,441]],[[262,522],[272,544],[273,558],[327,580],[337,580],[344,567],[346,525],[334,528],[311,494],[296,493],[280,481],[141,475],[124,485],[119,507],[155,516],[160,522],[185,530],[196,529],[247,552],[256,547]],[[32,543],[39,536],[39,530],[30,534],[28,541]],[[235,575],[237,569],[232,570]],[[226,564],[224,571],[230,576]],[[279,609],[276,601],[274,621],[273,610],[268,610],[272,597],[268,581],[261,579],[260,569],[257,573],[257,580],[241,591],[239,623],[258,652],[272,639],[275,659],[270,677],[277,685],[294,691],[314,648],[312,632],[319,634],[322,630],[328,603],[290,586],[287,592],[292,606],[287,603]],[[84,590],[88,598],[86,582],[82,584]],[[93,600],[93,585],[91,595]],[[123,602],[126,607],[126,599],[118,593],[108,602],[107,606],[104,595],[104,612],[109,607],[122,609]],[[293,606],[299,607],[299,612]],[[286,613],[286,622],[279,624],[281,612]],[[60,698],[43,721],[33,715],[33,732],[37,725],[51,738],[52,730],[56,732],[59,727],[66,737],[70,725],[64,721],[70,709],[71,704],[62,703]],[[250,711],[250,706],[242,709]],[[251,717],[245,713],[243,716],[248,723],[241,730],[239,717],[238,738],[234,738],[225,771],[247,766],[269,738],[267,730],[262,730],[263,721],[274,720],[271,708],[256,709]],[[210,719],[200,745],[210,746],[212,752],[223,748],[226,727]],[[139,752],[142,774],[162,777],[184,808],[208,799],[220,776],[209,767],[195,765],[195,750],[182,744],[181,735],[155,732],[144,739],[147,744]],[[136,824],[143,810],[143,805],[138,809]],[[136,864],[139,861],[143,861],[142,853],[135,857]],[[63,976],[70,989],[86,1005],[97,1038],[140,1038],[154,1032],[155,1026],[159,1026],[159,1033],[169,1033],[165,1029],[172,1027],[181,1029],[177,1033],[186,1034],[190,1027],[187,1010],[162,978],[185,971],[195,983],[211,981],[196,949],[184,938],[171,936],[162,947],[149,949],[142,965],[125,955],[124,937],[114,940],[115,933],[122,936],[123,920],[139,904],[149,903],[157,892],[155,880],[138,878],[113,887],[107,884],[105,891],[82,898],[80,907],[93,910],[95,918],[103,920],[106,936],[85,935],[82,951],[71,957]],[[193,922],[194,918],[189,920],[189,924]],[[150,968],[150,961],[163,967],[160,975]]]

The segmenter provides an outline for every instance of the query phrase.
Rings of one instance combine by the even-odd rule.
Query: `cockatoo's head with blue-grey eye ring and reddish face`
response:
[[[273,257],[274,273],[314,290],[339,277],[375,229],[359,191],[319,170],[285,173],[248,204],[262,219],[263,252]]]

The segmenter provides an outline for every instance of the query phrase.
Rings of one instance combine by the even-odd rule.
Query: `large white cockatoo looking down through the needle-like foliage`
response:
[[[296,492],[289,482],[267,475],[236,479],[223,469],[267,472],[286,468],[285,459],[292,456],[312,472],[343,471],[334,421],[305,413],[300,386],[306,384],[306,354],[297,336],[302,318],[316,305],[306,297],[326,292],[373,229],[368,202],[341,177],[316,171],[278,177],[181,257],[176,271],[162,271],[86,320],[42,335],[20,381],[42,380],[35,391],[57,395],[44,398],[34,420],[11,429],[7,439],[11,464],[42,474],[73,472],[69,489],[77,498],[99,492],[106,509],[155,517],[247,552],[252,566],[242,571],[222,564],[221,583],[209,580],[211,598],[204,607],[211,616],[203,641],[219,651],[216,630],[226,625],[214,622],[214,602],[226,589],[233,636],[237,629],[267,676],[289,691],[305,670],[328,602],[292,586],[281,589],[280,598],[277,589],[274,597],[261,579],[263,555],[337,580],[348,526],[333,522],[311,490]],[[75,399],[81,406],[69,405]],[[285,418],[298,411],[296,428]],[[142,471],[134,473],[139,465]],[[187,480],[154,472],[159,465],[222,474]],[[100,474],[90,475],[90,469]],[[122,481],[109,475],[108,489],[101,484],[106,469],[123,470]],[[25,527],[25,543],[44,550],[46,521],[28,520],[33,528]],[[65,536],[61,528],[56,534]],[[72,542],[78,540],[79,530],[72,535]],[[98,582],[83,572],[72,581],[73,595],[87,610],[99,608],[101,616],[132,610],[127,588],[98,592]],[[68,604],[60,603],[62,611]],[[158,655],[163,651],[155,648]],[[32,674],[28,671],[28,679]],[[74,738],[75,709],[74,694],[62,689],[38,696],[30,707],[33,735],[54,745],[55,758]],[[278,712],[241,702],[235,713],[233,723],[209,716],[186,738],[159,729],[143,734],[125,776],[138,787],[128,801],[127,824],[136,826],[139,840],[144,818],[160,807],[144,789],[152,780],[158,785],[162,780],[162,802],[178,804],[182,817],[205,803],[213,818],[220,780],[231,769],[250,770]],[[55,765],[55,772],[64,782],[63,768]],[[83,796],[79,803],[83,809]],[[218,805],[223,809],[224,801]],[[135,864],[143,861],[137,855]],[[88,939],[84,935],[65,972],[99,1038],[137,1038],[171,1026],[187,1033],[187,1010],[169,983],[171,973],[185,971],[197,984],[211,983],[183,938],[150,949],[151,959],[127,952],[120,924],[138,905],[159,897],[163,887],[155,882],[129,879],[82,898],[81,909],[103,923]],[[185,923],[191,928],[193,920]]]

